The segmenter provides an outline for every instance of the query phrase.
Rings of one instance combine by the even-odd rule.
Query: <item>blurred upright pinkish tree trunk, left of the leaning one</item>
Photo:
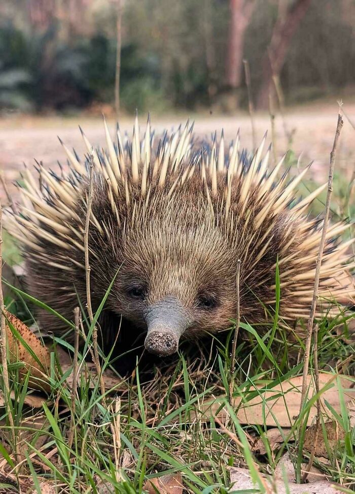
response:
[[[236,89],[240,86],[245,30],[251,20],[255,0],[229,0],[230,28],[226,59],[226,85]]]

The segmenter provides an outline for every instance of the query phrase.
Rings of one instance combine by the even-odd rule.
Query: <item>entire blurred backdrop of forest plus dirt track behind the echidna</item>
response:
[[[319,182],[341,99],[342,189],[354,179],[355,0],[0,0],[10,182],[22,161],[55,168],[58,134],[82,155],[78,124],[103,145],[101,113],[131,129],[135,109],[157,131],[187,116],[205,135],[240,127],[250,148],[269,130],[274,158],[289,148],[295,165],[302,151]]]

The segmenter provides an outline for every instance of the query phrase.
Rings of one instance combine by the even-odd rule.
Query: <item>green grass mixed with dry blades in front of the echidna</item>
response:
[[[307,187],[312,187],[308,184]],[[351,217],[354,214],[350,200],[351,189],[336,177],[332,208],[337,215]],[[322,199],[314,204],[315,213],[324,209]],[[10,239],[5,237],[4,251],[9,263],[19,261],[19,254]],[[279,299],[278,274],[276,272],[276,300]],[[104,302],[104,300],[103,300]],[[40,301],[25,292],[13,290],[6,303],[9,309],[32,324],[31,308]],[[269,403],[263,398],[262,389],[268,389],[302,375],[304,341],[287,339],[278,321],[278,304],[273,322],[261,332],[257,326],[240,325],[237,346],[237,365],[234,376],[234,396],[241,396],[244,403],[256,396],[264,406],[264,421]],[[101,310],[100,307],[99,310]],[[53,311],[52,311],[53,313]],[[57,315],[61,317],[60,315]],[[98,317],[98,314],[96,314]],[[355,374],[355,348],[336,333],[336,323],[342,323],[347,337],[349,319],[329,323],[319,322],[318,365],[330,374],[353,376]],[[73,324],[67,322],[68,330]],[[107,392],[105,400],[99,383],[90,386],[89,374],[84,372],[78,382],[75,414],[72,415],[72,398],[64,374],[56,371],[52,354],[50,383],[52,392],[40,408],[28,405],[26,396],[38,394],[29,388],[28,377],[19,379],[20,363],[9,365],[12,398],[0,408],[1,470],[0,492],[20,492],[31,487],[42,492],[43,482],[55,485],[57,492],[112,492],[136,493],[143,490],[146,481],[162,475],[182,474],[186,492],[204,494],[234,492],[230,483],[229,468],[248,468],[255,481],[255,492],[264,492],[260,473],[271,473],[285,452],[289,452],[297,479],[302,477],[301,466],[309,453],[304,449],[305,419],[314,402],[307,399],[299,417],[293,418],[293,427],[284,435],[283,443],[276,451],[265,435],[267,427],[240,424],[236,410],[228,405],[230,376],[231,331],[224,341],[211,340],[211,348],[191,354],[189,346],[182,346],[181,353],[171,365],[154,369],[154,376],[147,376],[136,369],[134,379],[120,380],[115,393]],[[86,326],[88,341],[78,355],[79,366],[85,369],[89,346],[92,343],[93,325]],[[73,347],[63,338],[55,338],[55,344],[73,355]],[[210,358],[209,358],[210,357]],[[102,367],[111,369],[114,356],[102,357]],[[310,371],[314,373],[313,355]],[[352,379],[352,378],[351,378]],[[352,379],[353,380],[353,379]],[[353,384],[353,382],[351,382]],[[3,389],[0,378],[0,389]],[[117,396],[120,396],[118,408]],[[196,420],[203,403],[216,400],[217,409],[225,407],[230,413],[227,429],[234,439],[220,427],[213,416],[209,421]],[[332,481],[355,490],[355,427],[345,406],[344,390],[340,388],[340,413],[328,404],[341,440],[334,447],[327,438],[322,424],[321,437],[328,450],[327,459],[315,458],[314,465]],[[9,427],[9,414],[14,421],[14,435]],[[38,422],[34,427],[33,418]],[[281,427],[279,426],[280,430]],[[73,443],[69,445],[69,431]],[[253,451],[256,440],[262,436],[266,454]],[[16,458],[15,451],[19,451]],[[16,468],[17,462],[21,467]],[[303,467],[302,467],[303,468]],[[7,474],[7,476],[4,476]],[[107,490],[103,490],[103,486]]]

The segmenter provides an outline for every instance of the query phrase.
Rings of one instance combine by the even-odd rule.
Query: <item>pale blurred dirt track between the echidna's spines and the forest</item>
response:
[[[344,112],[352,124],[355,123],[355,103],[344,105]],[[316,182],[327,178],[329,165],[329,153],[332,148],[334,133],[337,123],[337,103],[313,104],[290,109],[285,118],[276,115],[274,124],[277,155],[281,156],[289,147],[287,133],[293,133],[291,148],[296,156],[302,153],[301,167],[313,160],[311,167],[312,178]],[[252,127],[250,116],[245,112],[234,115],[216,115],[213,113],[176,114],[168,116],[151,115],[152,126],[159,133],[164,129],[176,127],[188,117],[195,121],[195,133],[205,136],[222,128],[227,139],[233,139],[240,128],[241,143],[243,147],[250,148],[252,142]],[[120,127],[131,134],[134,117],[123,117]],[[146,116],[140,116],[142,130],[145,126]],[[112,134],[115,122],[109,119]],[[19,178],[19,173],[25,162],[32,167],[34,159],[42,161],[48,168],[57,168],[57,160],[66,162],[65,154],[57,139],[59,135],[69,147],[74,147],[79,156],[85,152],[84,143],[78,126],[81,125],[88,139],[93,145],[105,146],[101,116],[88,116],[78,114],[76,116],[21,116],[18,114],[0,115],[0,169],[4,171],[8,188],[11,194],[16,196],[16,188],[13,182]],[[286,131],[285,131],[286,127]],[[271,141],[270,116],[265,114],[255,115],[255,130],[257,142],[265,131],[268,131],[268,141]],[[355,129],[344,117],[344,127],[338,148],[336,164],[338,173],[344,173],[350,180],[355,169]],[[4,199],[4,191],[0,190],[0,198]]]

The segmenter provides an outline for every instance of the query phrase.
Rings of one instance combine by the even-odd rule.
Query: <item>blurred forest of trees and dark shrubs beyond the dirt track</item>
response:
[[[257,108],[355,94],[353,0],[1,0],[0,105]],[[276,80],[275,80],[276,79]]]

